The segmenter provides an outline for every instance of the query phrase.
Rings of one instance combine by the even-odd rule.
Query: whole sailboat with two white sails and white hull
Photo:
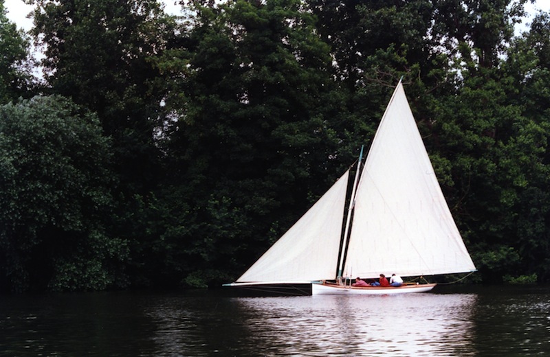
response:
[[[382,288],[355,287],[346,281],[374,279],[380,273],[421,277],[476,271],[401,80],[361,166],[362,150],[353,184],[349,185],[350,168],[259,260],[226,286],[302,284],[311,286],[312,295],[386,295],[427,292],[436,284]]]

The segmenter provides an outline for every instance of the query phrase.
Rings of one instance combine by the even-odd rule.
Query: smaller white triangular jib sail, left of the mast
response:
[[[348,178],[349,170],[236,282],[335,279]]]

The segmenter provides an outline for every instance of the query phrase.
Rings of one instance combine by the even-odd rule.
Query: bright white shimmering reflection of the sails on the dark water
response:
[[[473,356],[474,294],[240,298],[259,356]],[[250,350],[249,350],[250,352]]]

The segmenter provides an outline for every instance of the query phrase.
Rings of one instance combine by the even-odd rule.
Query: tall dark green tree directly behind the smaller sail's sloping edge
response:
[[[325,188],[311,177],[338,177],[329,47],[303,4],[195,3],[193,12],[174,76],[184,101],[167,102],[179,115],[169,192],[185,227],[166,238],[198,271],[188,281],[212,267],[214,278],[220,267],[241,271]]]

